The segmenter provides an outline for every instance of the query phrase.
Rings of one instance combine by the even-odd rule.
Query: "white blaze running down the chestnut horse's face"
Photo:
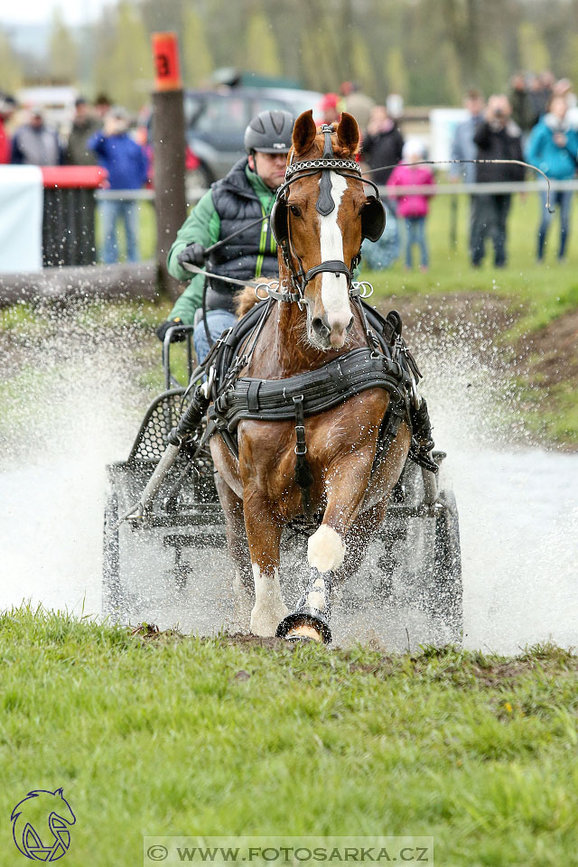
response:
[[[322,214],[319,215],[322,262],[328,262],[332,259],[343,262],[343,236],[337,223],[337,217],[340,212],[341,198],[346,189],[347,178],[336,172],[331,172],[331,196],[335,202],[335,208],[327,217],[323,217]],[[322,273],[322,303],[331,328],[347,328],[350,324],[351,311],[346,275],[331,274],[327,271]]]

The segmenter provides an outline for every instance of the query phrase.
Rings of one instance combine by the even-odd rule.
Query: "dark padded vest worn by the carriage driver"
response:
[[[247,157],[240,160],[225,178],[211,187],[213,206],[220,219],[219,238],[227,238],[228,235],[238,231],[243,223],[254,222],[263,216],[261,202],[247,180],[246,165]],[[215,274],[235,277],[237,280],[255,279],[261,230],[261,226],[257,223],[256,226],[247,228],[245,232],[231,238],[223,247],[218,247],[210,256],[207,270]],[[265,244],[262,247],[264,252],[260,276],[278,275],[276,246],[274,244],[275,253],[272,253],[271,227],[268,220]],[[233,310],[233,296],[238,292],[239,286],[224,283],[214,277],[208,278],[208,281],[207,310],[218,308]]]

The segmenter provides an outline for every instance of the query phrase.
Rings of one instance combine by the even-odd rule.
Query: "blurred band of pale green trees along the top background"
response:
[[[504,90],[517,70],[578,83],[578,0],[118,0],[74,31],[57,11],[44,61],[0,31],[0,89],[43,77],[137,109],[153,81],[150,34],[164,30],[179,34],[188,87],[237,67],[323,91],[352,80],[379,101],[395,91],[428,106]]]

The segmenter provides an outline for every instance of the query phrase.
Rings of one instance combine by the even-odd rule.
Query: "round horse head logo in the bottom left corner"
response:
[[[14,806],[12,834],[18,850],[33,861],[58,861],[69,851],[69,825],[74,825],[76,816],[62,795],[62,789],[54,792],[36,789]]]

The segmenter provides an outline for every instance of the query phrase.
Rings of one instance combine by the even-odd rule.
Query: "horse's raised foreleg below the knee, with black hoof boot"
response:
[[[293,614],[279,623],[275,635],[287,641],[331,643],[331,573],[312,569],[309,582]]]

